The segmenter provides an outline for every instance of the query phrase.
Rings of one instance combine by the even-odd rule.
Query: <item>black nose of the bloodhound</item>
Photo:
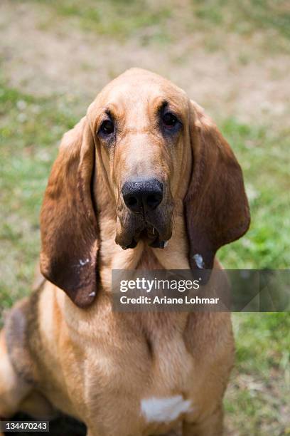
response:
[[[125,182],[122,195],[126,206],[136,214],[156,209],[163,199],[163,185],[157,179]]]

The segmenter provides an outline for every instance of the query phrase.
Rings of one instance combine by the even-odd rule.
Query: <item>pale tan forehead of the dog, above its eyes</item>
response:
[[[187,106],[186,93],[153,73],[124,73],[101,91],[95,100],[98,111],[110,110],[115,115],[142,115],[156,112],[168,104],[183,115]]]

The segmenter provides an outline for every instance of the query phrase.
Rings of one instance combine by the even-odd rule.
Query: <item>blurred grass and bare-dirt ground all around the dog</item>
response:
[[[123,56],[128,51],[132,53],[126,67],[141,58],[141,66],[151,66],[173,80],[178,77],[183,87],[188,83],[186,74],[197,68],[194,53],[202,51],[204,63],[216,66],[217,74],[220,59],[230,59],[226,65],[232,73],[224,85],[232,80],[232,89],[220,98],[210,98],[216,87],[214,80],[208,81],[210,92],[205,86],[198,103],[213,115],[242,165],[252,224],[244,238],[220,249],[220,260],[229,269],[289,268],[289,87],[279,92],[284,65],[290,66],[288,2],[14,0],[4,1],[2,7],[0,323],[14,301],[31,289],[39,252],[41,199],[60,137],[85,113],[98,89],[124,69]],[[14,26],[17,19],[20,27],[26,26],[24,37],[21,28]],[[41,55],[38,37],[44,38]],[[33,43],[28,47],[29,38]],[[77,52],[78,46],[68,46],[73,38],[80,41],[84,56]],[[97,71],[91,63],[92,46],[100,56]],[[59,47],[70,48],[66,60],[73,60],[71,74],[62,69]],[[149,59],[143,61],[146,53]],[[162,53],[166,58],[159,59]],[[269,60],[273,61],[270,66]],[[203,61],[198,68],[202,75]],[[184,78],[179,77],[183,71]],[[259,104],[249,100],[254,85],[247,90],[247,100],[236,93],[241,71],[249,83],[264,81]],[[97,72],[93,80],[100,88],[92,89],[91,83],[86,87],[87,78]],[[264,110],[262,91],[273,83],[277,91]],[[234,314],[233,323],[237,358],[225,398],[227,434],[290,435],[289,313]]]

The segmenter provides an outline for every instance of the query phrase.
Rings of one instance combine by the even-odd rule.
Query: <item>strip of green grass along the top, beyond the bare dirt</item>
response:
[[[21,1],[21,0],[18,0]],[[264,50],[277,49],[289,53],[290,11],[286,0],[31,0],[40,6],[43,28],[58,19],[69,28],[92,31],[121,41],[134,38],[141,45],[171,44],[181,37],[203,36],[209,51],[227,51],[230,33],[248,38],[262,33]],[[242,53],[242,61],[247,53]]]

